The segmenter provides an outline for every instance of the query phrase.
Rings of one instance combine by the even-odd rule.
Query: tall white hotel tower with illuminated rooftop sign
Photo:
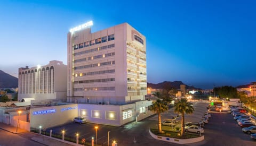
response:
[[[94,33],[88,26],[67,35],[67,101],[123,105],[144,100],[145,36],[127,23]]]

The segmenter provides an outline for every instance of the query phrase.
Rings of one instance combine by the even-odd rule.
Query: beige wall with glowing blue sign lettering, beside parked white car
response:
[[[75,108],[69,110],[63,110],[64,108]],[[35,115],[35,111],[51,110],[55,109],[55,113],[38,114]],[[51,106],[42,108],[31,108],[30,109],[30,127],[38,128],[42,126],[43,128],[57,126],[73,121],[74,117],[78,116],[78,106],[77,104],[63,105],[63,106]]]

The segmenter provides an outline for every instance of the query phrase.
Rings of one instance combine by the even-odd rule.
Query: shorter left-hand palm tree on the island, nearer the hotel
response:
[[[162,126],[161,126],[161,113],[168,110],[168,105],[166,102],[157,99],[156,102],[154,102],[151,105],[150,111],[153,111],[154,113],[158,114],[158,132],[162,133]]]

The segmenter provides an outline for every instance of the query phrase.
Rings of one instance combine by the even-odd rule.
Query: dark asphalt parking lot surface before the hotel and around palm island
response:
[[[207,104],[206,104],[207,105]],[[187,115],[186,121],[199,119],[202,117],[202,113],[206,110],[205,103],[197,103],[197,110],[193,115]],[[173,110],[173,109],[171,109]],[[163,118],[171,118],[173,116],[172,111],[163,114]],[[208,124],[204,125],[205,140],[198,143],[192,143],[187,145],[255,145],[256,141],[250,139],[249,134],[242,132],[241,127],[237,125],[237,122],[233,119],[233,116],[227,112],[210,111],[211,118]],[[201,116],[201,117],[200,117]],[[189,118],[191,117],[191,118]],[[85,138],[86,141],[90,141],[94,137],[95,142],[95,130],[96,124],[86,123],[69,123],[66,125],[52,127],[53,133],[61,133],[65,130],[65,134],[74,136],[79,133],[79,139]],[[129,123],[121,127],[98,125],[98,144],[107,145],[107,133],[109,133],[110,143],[116,140],[118,145],[179,145],[173,143],[167,143],[151,138],[148,132],[149,127],[156,127],[157,115],[151,116],[138,123]],[[47,130],[49,131],[50,128]]]

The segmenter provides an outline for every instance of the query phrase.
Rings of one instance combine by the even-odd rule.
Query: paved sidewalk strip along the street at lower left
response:
[[[0,123],[0,129],[4,130],[4,131],[8,131],[11,132],[13,134],[19,134],[22,132],[28,132],[26,130],[23,130],[21,128],[18,128],[17,131],[17,127],[11,126],[11,125],[7,125],[4,123]],[[17,132],[16,132],[17,131]],[[31,132],[33,133],[33,132]],[[31,138],[31,140],[44,144],[44,145],[49,145],[49,146],[69,146],[69,145],[77,145],[76,143],[73,142],[68,142],[68,141],[62,141],[59,139],[55,139],[55,138],[50,138],[49,136],[45,136],[45,135],[39,135],[37,133],[33,133],[35,136],[33,138]]]

